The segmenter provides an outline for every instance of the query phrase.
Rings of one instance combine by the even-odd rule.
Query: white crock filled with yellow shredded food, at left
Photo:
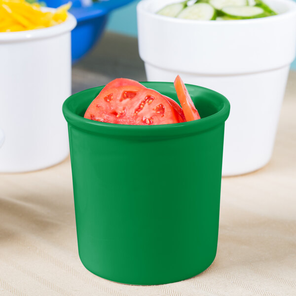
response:
[[[69,153],[62,105],[71,95],[71,31],[57,26],[0,33],[0,172],[26,172]]]

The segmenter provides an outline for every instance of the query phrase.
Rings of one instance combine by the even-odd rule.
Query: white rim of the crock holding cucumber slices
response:
[[[202,25],[209,25],[209,26],[217,26],[217,24],[219,24],[220,26],[222,25],[226,25],[228,26],[229,23],[230,25],[233,25],[233,21],[232,22],[227,22],[224,20],[210,20],[210,21],[204,21],[204,20],[186,20],[186,19],[179,19],[179,18],[175,18],[175,17],[167,17],[167,16],[163,16],[163,15],[158,15],[156,14],[156,12],[152,12],[149,11],[147,9],[147,7],[145,5],[147,5],[149,2],[152,2],[153,0],[141,0],[138,5],[137,5],[137,11],[141,11],[142,13],[145,13],[146,15],[153,17],[155,19],[158,20],[162,20],[162,21],[169,21],[169,22],[173,22],[173,23],[180,23],[180,24],[202,24]],[[262,17],[262,18],[254,18],[254,19],[244,19],[244,20],[234,20],[235,24],[237,23],[241,23],[241,24],[247,24],[247,23],[263,23],[263,22],[272,22],[275,20],[280,20],[280,19],[285,19],[288,16],[296,16],[296,2],[293,0],[273,0],[274,2],[278,2],[279,4],[288,4],[288,10],[283,12],[283,13],[279,13],[277,15],[272,15],[272,16],[268,16],[268,17]],[[172,1],[173,2],[173,1]],[[174,1],[174,2],[178,2],[178,1]],[[181,2],[181,0],[179,1]]]

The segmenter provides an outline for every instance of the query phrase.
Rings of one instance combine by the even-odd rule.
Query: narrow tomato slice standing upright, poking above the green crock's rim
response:
[[[186,86],[179,75],[176,77],[174,85],[186,120],[192,121],[200,119],[199,113],[194,107]]]

